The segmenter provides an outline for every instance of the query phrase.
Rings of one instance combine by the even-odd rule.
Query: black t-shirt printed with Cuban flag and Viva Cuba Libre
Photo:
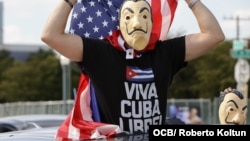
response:
[[[186,66],[184,36],[158,41],[134,59],[108,41],[83,38],[83,43],[80,66],[94,86],[102,122],[130,133],[165,123],[169,85]]]

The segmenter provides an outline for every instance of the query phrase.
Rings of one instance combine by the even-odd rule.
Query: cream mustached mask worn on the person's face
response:
[[[147,1],[125,1],[120,9],[119,26],[128,47],[143,50],[149,43],[152,31],[151,7]]]

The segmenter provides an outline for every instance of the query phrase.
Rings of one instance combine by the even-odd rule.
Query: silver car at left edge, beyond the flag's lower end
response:
[[[66,117],[66,115],[58,114],[32,114],[2,117],[0,118],[0,133],[34,128],[58,127]]]

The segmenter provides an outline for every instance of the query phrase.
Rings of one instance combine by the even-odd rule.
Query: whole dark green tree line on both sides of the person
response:
[[[230,56],[231,41],[225,41],[206,55],[189,62],[174,77],[168,98],[214,98],[227,87],[236,87]],[[62,99],[62,68],[52,50],[31,54],[18,62],[0,51],[0,103]],[[78,86],[79,67],[71,62],[71,88]],[[71,94],[73,99],[73,90]]]

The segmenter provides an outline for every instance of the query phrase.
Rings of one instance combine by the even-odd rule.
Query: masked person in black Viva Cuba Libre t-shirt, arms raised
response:
[[[125,0],[119,9],[119,30],[103,40],[85,38],[65,33],[76,0],[65,1],[49,16],[41,39],[80,65],[93,83],[101,121],[128,134],[147,133],[150,125],[163,125],[174,75],[225,38],[215,16],[200,0],[186,0],[199,33],[160,41],[151,32],[149,3]]]

